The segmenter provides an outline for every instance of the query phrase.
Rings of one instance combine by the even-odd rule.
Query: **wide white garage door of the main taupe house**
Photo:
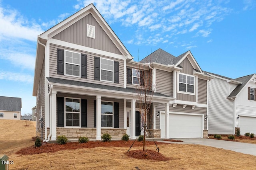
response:
[[[161,137],[164,138],[165,117],[161,114]],[[203,116],[169,114],[169,136],[170,138],[201,138],[203,129]]]

